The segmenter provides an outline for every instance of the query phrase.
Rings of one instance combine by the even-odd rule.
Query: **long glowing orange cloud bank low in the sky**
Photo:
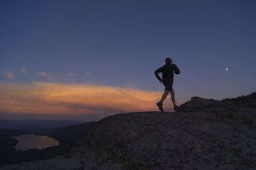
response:
[[[93,84],[0,82],[0,112],[8,114],[116,114],[157,110],[161,92]]]

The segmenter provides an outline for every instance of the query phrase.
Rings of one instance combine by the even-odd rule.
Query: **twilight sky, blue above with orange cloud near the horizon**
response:
[[[166,57],[181,70],[179,105],[248,95],[255,9],[254,0],[2,0],[0,119],[157,111],[164,88],[154,71]]]

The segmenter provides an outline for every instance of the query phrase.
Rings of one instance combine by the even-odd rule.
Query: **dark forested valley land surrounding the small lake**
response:
[[[65,154],[74,147],[79,139],[81,139],[81,137],[85,135],[86,131],[88,131],[95,123],[96,122],[87,122],[83,124],[67,126],[63,129],[55,129],[55,131],[48,133],[42,133],[40,131],[33,133],[31,131],[0,129],[0,166],[29,162],[33,160],[49,159],[61,154]],[[44,148],[42,150],[15,150],[14,146],[16,146],[18,141],[12,137],[29,133],[53,137],[59,141],[59,146]]]

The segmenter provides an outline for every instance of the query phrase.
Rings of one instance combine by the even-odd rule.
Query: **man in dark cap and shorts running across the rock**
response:
[[[173,101],[174,110],[177,110],[178,108],[175,101],[175,92],[173,90],[173,73],[180,74],[180,69],[172,62],[173,61],[171,60],[171,58],[166,58],[165,65],[155,71],[156,78],[165,86],[165,92],[164,94],[162,94],[161,100],[156,103],[161,112],[164,112],[164,109],[162,108],[162,103],[169,95],[169,92],[171,92],[171,101]],[[162,73],[162,78],[160,78],[158,73]]]

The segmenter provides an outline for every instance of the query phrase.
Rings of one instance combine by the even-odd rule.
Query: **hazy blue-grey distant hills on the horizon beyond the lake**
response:
[[[78,120],[0,120],[0,129],[19,130],[41,130],[41,129],[61,129],[73,124],[82,124]]]

